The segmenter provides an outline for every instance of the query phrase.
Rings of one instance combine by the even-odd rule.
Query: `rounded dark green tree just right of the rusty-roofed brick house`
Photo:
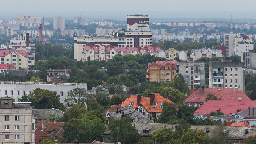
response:
[[[90,142],[90,127],[81,119],[70,119],[63,125],[62,143]]]

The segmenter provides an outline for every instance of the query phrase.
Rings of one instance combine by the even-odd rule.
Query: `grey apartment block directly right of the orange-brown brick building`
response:
[[[179,61],[177,62],[177,74],[182,74],[188,87],[194,89],[205,84],[205,63],[193,61],[193,59]]]

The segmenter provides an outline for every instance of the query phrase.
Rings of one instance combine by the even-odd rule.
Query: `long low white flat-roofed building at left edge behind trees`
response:
[[[69,91],[74,88],[85,88],[87,90],[87,84],[79,83],[46,83],[46,82],[1,82],[0,83],[0,96],[9,96],[15,101],[21,98],[25,94],[31,94],[34,89],[47,89],[57,92],[60,95],[60,102],[65,106],[69,106],[64,102],[68,97]]]

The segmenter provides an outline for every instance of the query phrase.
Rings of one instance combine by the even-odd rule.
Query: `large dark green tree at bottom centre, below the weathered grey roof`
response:
[[[140,139],[140,134],[131,124],[132,118],[127,116],[118,120],[110,119],[110,140],[117,140],[124,144],[134,144]]]

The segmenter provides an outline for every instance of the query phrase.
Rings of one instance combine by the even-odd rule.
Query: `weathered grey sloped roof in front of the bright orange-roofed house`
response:
[[[124,113],[124,115],[123,115]],[[118,111],[114,111],[110,113],[110,117],[114,119],[119,119],[124,116],[130,116],[133,119],[133,123],[154,123],[153,120],[150,120],[148,117],[143,115],[143,113],[138,112],[137,110],[133,109],[132,107],[129,106],[124,106]]]

